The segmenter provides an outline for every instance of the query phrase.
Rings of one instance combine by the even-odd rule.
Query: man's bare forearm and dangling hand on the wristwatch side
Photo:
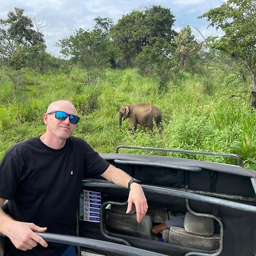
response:
[[[119,187],[124,188],[128,187],[128,183],[131,179],[130,175],[112,166],[112,164],[110,164],[108,169],[101,176],[118,185]],[[131,208],[133,207],[133,204],[135,204],[137,221],[141,222],[143,216],[147,213],[147,200],[141,185],[137,183],[132,183],[130,189],[131,190],[128,197],[128,207],[126,213],[129,213],[131,211]]]

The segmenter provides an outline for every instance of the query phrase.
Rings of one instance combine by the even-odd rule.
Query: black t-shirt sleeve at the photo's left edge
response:
[[[12,200],[22,174],[23,165],[7,151],[0,162],[0,197]]]

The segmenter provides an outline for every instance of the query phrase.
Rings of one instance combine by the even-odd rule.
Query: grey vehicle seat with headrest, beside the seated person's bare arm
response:
[[[184,228],[171,226],[163,230],[163,241],[195,249],[214,251],[218,249],[220,234],[214,234],[212,218],[185,214]]]

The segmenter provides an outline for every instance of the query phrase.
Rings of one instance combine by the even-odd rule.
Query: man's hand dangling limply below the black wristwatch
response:
[[[128,207],[126,213],[130,213],[133,204],[135,204],[137,221],[141,222],[142,218],[147,213],[147,200],[141,185],[137,183],[132,183],[130,189],[131,190],[129,193]]]

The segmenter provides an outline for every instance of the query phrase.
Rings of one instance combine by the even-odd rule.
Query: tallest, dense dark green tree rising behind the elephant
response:
[[[114,46],[118,48],[118,61],[124,67],[133,67],[135,58],[152,38],[163,38],[171,43],[176,35],[172,29],[174,15],[170,9],[152,6],[145,11],[134,10],[122,16],[111,30]]]

